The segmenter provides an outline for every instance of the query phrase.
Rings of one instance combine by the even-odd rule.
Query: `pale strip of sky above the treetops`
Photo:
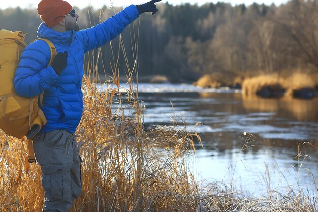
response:
[[[107,6],[129,6],[131,4],[142,4],[145,3],[149,0],[88,0],[88,1],[84,1],[84,0],[68,0],[68,2],[72,5],[72,6],[77,6],[79,8],[83,8],[88,6],[90,3],[94,8],[100,8],[103,5],[107,5]],[[223,2],[227,2],[227,3],[231,3],[233,6],[238,5],[238,4],[242,4],[244,3],[245,5],[250,5],[253,2],[259,3],[259,4],[266,4],[266,5],[271,5],[272,3],[274,3],[275,5],[280,5],[283,4],[285,2],[287,2],[287,0],[162,0],[163,3],[168,2],[169,4],[172,5],[180,5],[180,4],[184,4],[184,3],[190,3],[190,4],[198,4],[198,5],[202,5],[205,4],[207,2],[213,2],[213,3],[217,3],[218,1],[223,1]],[[17,7],[20,6],[21,8],[36,8],[38,3],[40,1],[35,1],[35,0],[3,0],[0,4],[0,9],[6,9],[8,7]]]

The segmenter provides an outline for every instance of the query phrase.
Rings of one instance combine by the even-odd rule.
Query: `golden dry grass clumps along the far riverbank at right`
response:
[[[193,85],[202,88],[230,87],[242,89],[244,96],[257,95],[264,98],[289,96],[312,99],[318,96],[318,73],[292,72],[287,75],[278,73],[260,74],[250,77],[236,77],[225,80],[221,76],[204,75]]]

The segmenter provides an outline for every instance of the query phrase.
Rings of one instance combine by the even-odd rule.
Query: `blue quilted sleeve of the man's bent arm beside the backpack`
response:
[[[47,67],[50,57],[49,46],[41,40],[24,49],[14,77],[14,88],[19,96],[37,96],[57,81],[59,76],[52,66]]]

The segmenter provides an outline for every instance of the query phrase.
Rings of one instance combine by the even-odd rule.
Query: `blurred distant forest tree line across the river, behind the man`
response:
[[[234,78],[318,70],[318,0],[292,0],[279,7],[219,2],[202,6],[165,3],[158,8],[155,16],[142,15],[125,29],[122,39],[87,54],[86,61],[98,58],[99,72],[109,75],[111,69],[123,74],[127,65],[138,66],[139,76],[165,75],[172,82],[194,81],[204,74]],[[82,28],[121,10],[106,6],[76,9]],[[0,10],[0,20],[1,29],[27,32],[27,43],[36,38],[41,23],[35,9],[19,7]]]

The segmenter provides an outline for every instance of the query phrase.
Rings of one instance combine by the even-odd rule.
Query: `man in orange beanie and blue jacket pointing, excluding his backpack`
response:
[[[68,211],[81,194],[78,147],[73,136],[82,117],[84,53],[116,38],[144,12],[156,13],[152,0],[131,5],[103,23],[79,30],[78,15],[63,0],[42,0],[37,12],[43,23],[38,38],[49,39],[57,50],[52,64],[50,49],[43,40],[28,45],[17,68],[14,85],[24,97],[44,92],[43,106],[47,124],[33,138],[34,151],[42,170],[45,193],[43,211]]]

